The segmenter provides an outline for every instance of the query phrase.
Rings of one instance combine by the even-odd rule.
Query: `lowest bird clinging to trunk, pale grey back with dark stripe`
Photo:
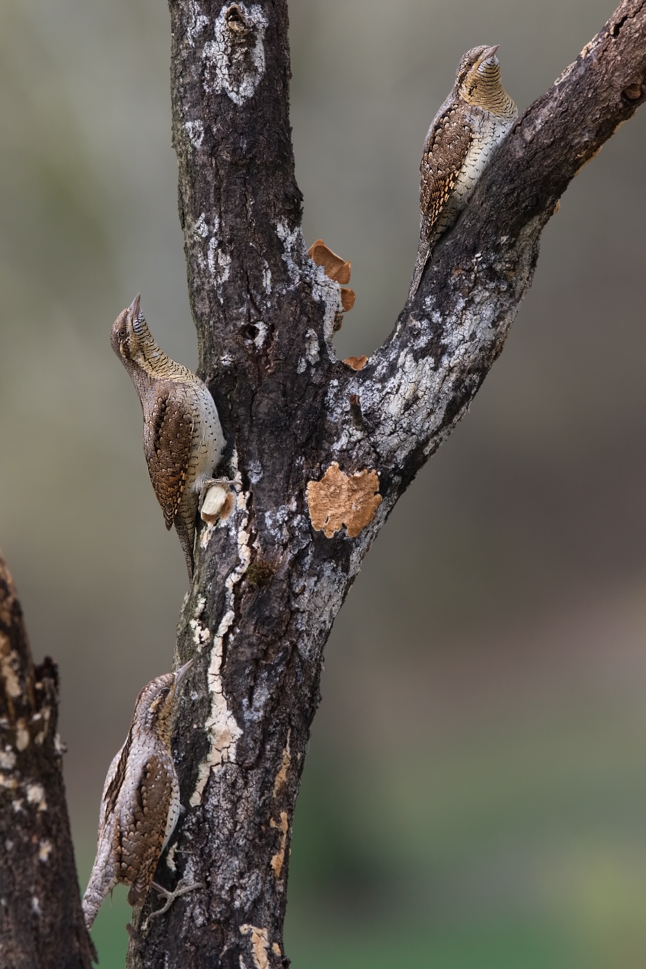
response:
[[[127,739],[108,770],[96,859],[83,896],[88,928],[115,885],[130,886],[130,905],[144,904],[159,856],[177,824],[179,789],[171,731],[178,687],[190,665],[144,687]]]

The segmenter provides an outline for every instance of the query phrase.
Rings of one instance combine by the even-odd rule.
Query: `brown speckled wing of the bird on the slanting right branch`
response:
[[[424,145],[420,166],[422,232],[431,241],[440,216],[462,171],[473,132],[460,109],[448,108],[436,118]]]

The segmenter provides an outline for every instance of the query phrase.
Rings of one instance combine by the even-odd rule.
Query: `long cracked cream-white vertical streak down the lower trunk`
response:
[[[232,465],[235,466],[236,455],[232,458]],[[239,476],[240,477],[240,476]],[[210,654],[210,666],[207,674],[210,692],[210,715],[205,724],[207,733],[210,735],[209,752],[198,767],[197,783],[195,790],[190,798],[192,806],[199,804],[204,794],[204,789],[210,777],[210,772],[217,770],[227,761],[234,761],[236,756],[236,743],[242,735],[242,730],[238,726],[235,716],[229,709],[227,699],[224,695],[222,685],[222,656],[224,637],[229,633],[234,619],[234,588],[241,580],[242,576],[249,567],[251,551],[249,548],[248,511],[246,506],[247,495],[242,492],[238,494],[237,510],[240,513],[231,516],[230,527],[236,529],[236,541],[238,544],[239,564],[225,581],[226,610],[220,620],[217,632],[213,637],[213,645]],[[194,618],[201,619],[204,602],[196,609]]]

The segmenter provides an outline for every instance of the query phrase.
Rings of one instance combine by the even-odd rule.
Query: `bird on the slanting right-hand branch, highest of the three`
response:
[[[420,234],[408,298],[414,297],[439,236],[468,203],[496,148],[518,117],[501,84],[496,47],[463,55],[453,90],[437,111],[420,166]]]

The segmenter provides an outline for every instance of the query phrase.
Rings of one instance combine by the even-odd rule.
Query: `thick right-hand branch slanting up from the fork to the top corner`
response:
[[[392,336],[339,383],[336,456],[370,459],[405,486],[450,434],[501,354],[560,197],[643,103],[645,78],[646,4],[625,0],[518,120]],[[350,394],[363,428],[346,419]]]

